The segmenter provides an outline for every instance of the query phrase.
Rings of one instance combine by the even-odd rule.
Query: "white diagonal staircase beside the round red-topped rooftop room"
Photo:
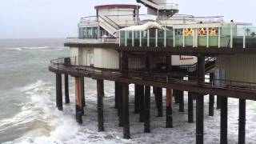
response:
[[[118,37],[117,31],[119,30],[119,26],[111,21],[109,18],[98,16],[98,24],[101,26],[104,30],[106,30],[109,34],[114,36],[115,38]]]

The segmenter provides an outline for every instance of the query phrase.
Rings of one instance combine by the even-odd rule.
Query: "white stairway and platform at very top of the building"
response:
[[[178,4],[167,3],[166,0],[137,0],[148,7],[148,13],[170,18],[178,13]]]

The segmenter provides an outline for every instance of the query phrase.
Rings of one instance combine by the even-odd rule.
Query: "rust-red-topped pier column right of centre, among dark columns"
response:
[[[166,89],[166,128],[173,127],[173,90]]]

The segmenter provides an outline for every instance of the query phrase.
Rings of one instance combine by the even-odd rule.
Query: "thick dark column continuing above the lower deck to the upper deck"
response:
[[[205,82],[205,57],[198,55],[198,83]],[[203,144],[203,122],[204,122],[204,95],[196,97],[196,143]]]

